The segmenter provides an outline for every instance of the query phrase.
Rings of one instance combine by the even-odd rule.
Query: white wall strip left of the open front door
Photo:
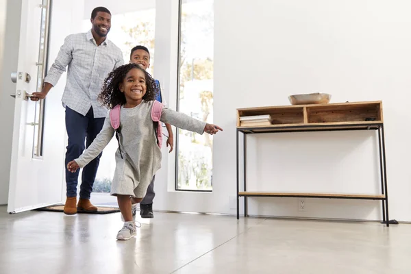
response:
[[[7,2],[7,6],[5,3]],[[20,39],[21,1],[1,1],[1,14],[5,17],[4,32],[0,35],[0,205],[8,201],[10,179],[10,160],[12,153],[12,133],[14,117],[14,99],[10,97],[16,90],[10,74],[17,71],[18,40]]]

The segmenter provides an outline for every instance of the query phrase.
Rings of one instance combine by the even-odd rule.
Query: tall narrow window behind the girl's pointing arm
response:
[[[180,0],[177,110],[212,123],[214,0]],[[212,190],[212,136],[178,129],[176,190]]]

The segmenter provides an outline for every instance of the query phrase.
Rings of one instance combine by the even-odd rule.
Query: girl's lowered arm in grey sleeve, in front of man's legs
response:
[[[113,136],[114,129],[110,124],[110,114],[108,114],[108,116],[105,117],[103,129],[101,129],[101,132],[97,135],[90,147],[88,147],[88,149],[86,149],[86,151],[84,151],[79,158],[69,162],[69,164],[67,164],[67,169],[71,172],[75,172],[77,169],[86,166],[89,162],[96,158],[101,151],[103,151]]]

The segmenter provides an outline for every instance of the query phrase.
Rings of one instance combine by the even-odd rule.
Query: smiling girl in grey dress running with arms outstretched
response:
[[[99,100],[110,110],[121,105],[121,135],[110,193],[117,197],[125,220],[123,228],[117,234],[118,240],[129,240],[136,236],[132,203],[140,203],[145,197],[153,175],[160,169],[162,154],[151,119],[154,99],[154,79],[138,64],[125,64],[112,71],[104,80],[103,90],[99,95]],[[198,134],[216,134],[223,130],[168,108],[162,109],[160,121]],[[99,135],[79,158],[67,164],[67,169],[75,172],[86,166],[103,151],[113,135],[114,129],[108,114]]]

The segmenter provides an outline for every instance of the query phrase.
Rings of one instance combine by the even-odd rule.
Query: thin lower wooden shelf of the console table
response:
[[[375,194],[340,194],[340,193],[295,193],[295,192],[238,192],[240,196],[247,197],[305,197],[305,198],[334,198],[334,199],[370,199],[383,200],[385,195]]]

